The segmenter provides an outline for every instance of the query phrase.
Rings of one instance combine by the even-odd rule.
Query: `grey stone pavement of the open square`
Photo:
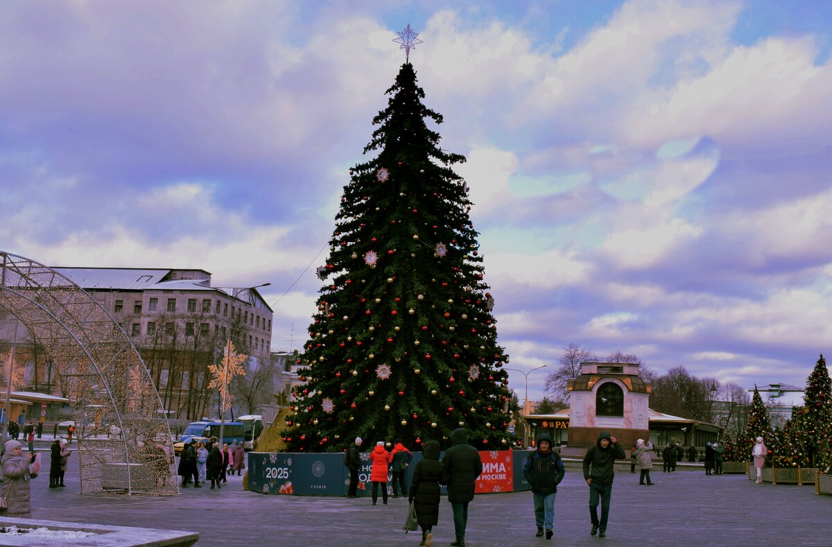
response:
[[[73,465],[77,460],[71,458]],[[555,536],[534,537],[529,492],[478,495],[469,507],[469,547],[504,545],[832,545],[832,496],[812,486],[755,485],[741,475],[704,471],[651,473],[655,486],[639,486],[629,466],[616,473],[607,538],[589,535],[588,491],[570,463],[555,502]],[[163,498],[79,495],[77,467],[67,487],[49,489],[47,470],[32,480],[32,516],[107,525],[191,530],[197,547],[216,545],[418,545],[420,533],[401,530],[404,498],[371,505],[369,498],[264,495],[242,490],[230,477],[221,490],[186,488]],[[450,504],[440,505],[433,545],[453,537]],[[600,510],[600,508],[599,508]]]

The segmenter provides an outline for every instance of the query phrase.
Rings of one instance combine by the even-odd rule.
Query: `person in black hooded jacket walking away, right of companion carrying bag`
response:
[[[445,451],[442,463],[445,466],[442,482],[448,486],[448,501],[453,509],[453,530],[457,536],[451,545],[464,547],[468,502],[473,500],[477,477],[483,472],[483,460],[477,449],[468,444],[468,433],[462,427],[451,432],[451,447]]]

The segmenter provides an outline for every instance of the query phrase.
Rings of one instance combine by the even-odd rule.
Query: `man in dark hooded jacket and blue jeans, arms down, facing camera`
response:
[[[537,537],[543,535],[546,527],[546,539],[552,539],[552,521],[555,520],[555,495],[557,485],[563,480],[566,469],[561,456],[552,451],[552,437],[543,433],[537,439],[537,451],[526,458],[522,474],[532,486],[534,498],[534,520],[537,523]]]

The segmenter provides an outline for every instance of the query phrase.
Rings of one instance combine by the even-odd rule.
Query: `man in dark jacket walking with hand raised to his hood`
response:
[[[607,535],[607,520],[610,517],[612,480],[616,476],[616,458],[626,458],[626,453],[614,436],[601,431],[595,446],[590,446],[583,456],[583,478],[589,485],[589,516],[592,519],[591,535]],[[601,498],[601,521],[598,521],[598,498]],[[599,531],[600,529],[600,531]]]

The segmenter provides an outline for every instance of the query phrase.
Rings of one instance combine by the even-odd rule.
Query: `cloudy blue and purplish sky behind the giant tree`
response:
[[[0,249],[268,281],[299,347],[408,23],[512,367],[575,342],[805,384],[832,350],[830,2],[6,3]]]

